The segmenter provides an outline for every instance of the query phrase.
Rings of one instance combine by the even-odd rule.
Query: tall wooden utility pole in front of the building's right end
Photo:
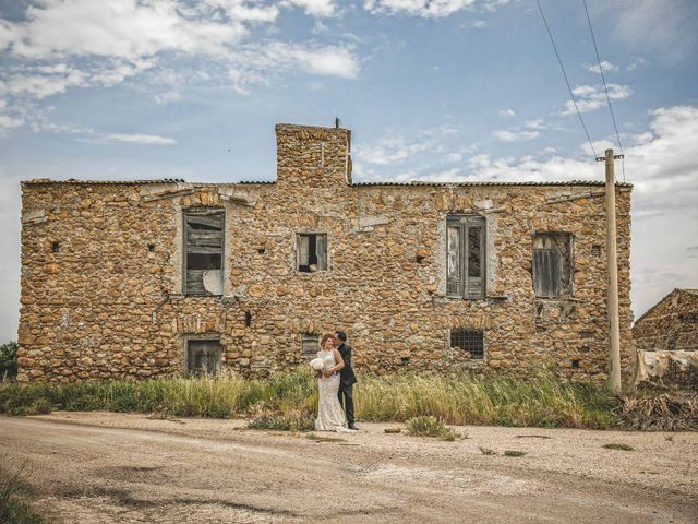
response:
[[[621,325],[618,321],[618,254],[615,228],[615,170],[614,160],[623,155],[614,155],[606,150],[606,156],[597,162],[606,164],[606,266],[609,272],[609,290],[606,309],[609,312],[609,388],[613,393],[621,393]]]

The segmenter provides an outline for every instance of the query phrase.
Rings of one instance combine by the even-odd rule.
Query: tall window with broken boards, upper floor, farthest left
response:
[[[184,212],[184,294],[222,295],[224,211]]]

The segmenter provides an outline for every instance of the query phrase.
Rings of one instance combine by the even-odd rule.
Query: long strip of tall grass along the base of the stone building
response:
[[[260,427],[279,429],[309,427],[288,418],[294,412],[314,414],[316,390],[310,369],[254,380],[224,374],[144,381],[10,382],[0,384],[0,413],[29,415],[58,409],[159,413],[168,417],[243,416],[261,419]],[[593,429],[612,426],[611,407],[615,403],[600,386],[549,374],[520,380],[466,373],[363,376],[354,388],[354,400],[357,417],[366,421],[406,422],[434,417],[444,425]]]

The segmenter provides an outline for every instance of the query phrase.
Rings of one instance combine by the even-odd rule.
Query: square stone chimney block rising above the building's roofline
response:
[[[351,184],[351,131],[279,123],[276,126],[278,184],[340,188]]]

